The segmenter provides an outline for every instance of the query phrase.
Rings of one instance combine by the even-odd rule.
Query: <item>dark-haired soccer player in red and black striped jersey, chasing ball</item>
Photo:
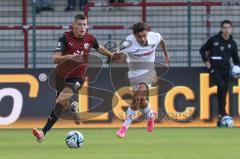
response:
[[[87,32],[87,18],[78,14],[74,18],[72,30],[61,35],[57,43],[53,56],[53,62],[58,65],[55,70],[55,88],[58,93],[56,106],[43,129],[34,128],[32,130],[38,142],[44,140],[46,133],[57,122],[62,113],[69,110],[69,107],[70,111],[73,112],[75,123],[80,123],[78,101],[72,100],[72,96],[78,94],[83,86],[91,48],[114,61],[124,61],[123,54],[113,54],[99,45],[95,36]]]

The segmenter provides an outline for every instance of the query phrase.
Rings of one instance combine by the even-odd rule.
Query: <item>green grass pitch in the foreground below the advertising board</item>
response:
[[[53,129],[37,143],[29,129],[0,129],[0,159],[239,159],[239,128],[77,129],[85,137],[79,149],[69,149],[65,135],[72,129]]]

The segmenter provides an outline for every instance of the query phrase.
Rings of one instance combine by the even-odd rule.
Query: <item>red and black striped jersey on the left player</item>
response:
[[[76,38],[72,31],[62,34],[55,52],[61,52],[62,55],[79,54],[84,60],[82,62],[67,60],[58,64],[57,73],[65,78],[84,77],[91,48],[98,49],[99,44],[95,36],[90,33],[86,33],[82,38]]]

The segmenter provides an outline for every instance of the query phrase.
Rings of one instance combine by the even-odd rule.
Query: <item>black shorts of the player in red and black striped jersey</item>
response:
[[[84,79],[82,77],[71,77],[66,78],[65,80],[55,80],[56,82],[56,89],[57,89],[57,97],[63,91],[65,87],[71,88],[76,94],[83,86]]]

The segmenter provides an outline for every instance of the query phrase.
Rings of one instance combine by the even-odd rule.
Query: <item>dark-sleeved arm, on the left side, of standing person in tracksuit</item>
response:
[[[211,47],[212,47],[212,38],[209,38],[208,41],[205,44],[203,44],[203,46],[200,48],[200,51],[199,51],[202,57],[202,60],[208,69],[211,69],[211,64],[208,57],[208,53]]]

